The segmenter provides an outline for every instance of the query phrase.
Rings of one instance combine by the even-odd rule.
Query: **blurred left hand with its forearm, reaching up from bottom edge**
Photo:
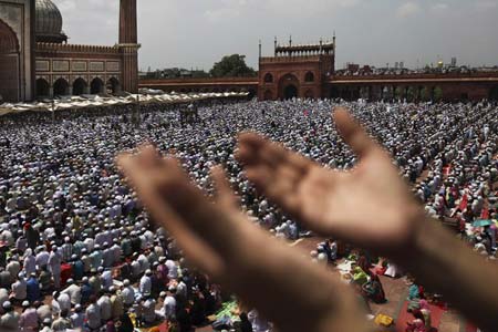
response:
[[[220,168],[212,170],[216,204],[190,184],[179,163],[151,146],[118,165],[155,220],[187,259],[235,292],[280,331],[366,331],[353,292],[253,226],[238,211]]]

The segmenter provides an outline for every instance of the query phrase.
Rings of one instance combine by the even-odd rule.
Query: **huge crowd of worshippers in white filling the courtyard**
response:
[[[199,121],[187,125],[179,108],[163,105],[143,105],[133,124],[133,106],[0,118],[0,330],[133,331],[166,321],[170,331],[191,331],[215,315],[242,332],[270,331],[251,309],[228,321],[216,315],[234,299],[189,268],[175,240],[154,227],[114,158],[152,142],[178,156],[208,194],[209,169],[222,164],[250,219],[295,240],[310,234],[256,193],[235,160],[236,137],[260,132],[324,167],[349,169],[357,159],[334,127],[336,104],[201,105]],[[427,214],[494,258],[498,108],[487,102],[341,104],[391,153]],[[335,241],[312,252],[324,263],[350,255]],[[364,295],[383,302],[376,276],[397,276],[395,267],[367,253],[356,264],[366,273]]]

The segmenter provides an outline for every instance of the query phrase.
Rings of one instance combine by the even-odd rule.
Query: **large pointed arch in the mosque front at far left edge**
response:
[[[19,101],[19,41],[12,29],[0,20],[0,95],[3,101]]]

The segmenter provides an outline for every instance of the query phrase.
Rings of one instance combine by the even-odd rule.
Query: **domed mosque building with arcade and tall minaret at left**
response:
[[[51,0],[0,0],[0,95],[19,102],[138,90],[136,0],[120,2],[115,45],[68,43]]]

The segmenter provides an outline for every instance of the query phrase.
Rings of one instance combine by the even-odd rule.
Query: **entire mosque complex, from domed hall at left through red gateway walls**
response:
[[[7,102],[64,95],[165,92],[249,92],[251,97],[408,101],[498,100],[498,72],[401,75],[339,75],[335,37],[315,44],[274,41],[257,77],[142,80],[138,82],[136,0],[120,0],[115,45],[68,43],[52,0],[0,0],[0,96]]]

